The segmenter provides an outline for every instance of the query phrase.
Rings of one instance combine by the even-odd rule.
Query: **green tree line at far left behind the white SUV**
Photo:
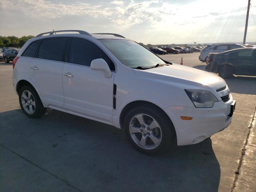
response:
[[[21,48],[27,40],[34,38],[34,36],[22,36],[18,38],[16,36],[0,36],[0,48],[2,47],[16,47]]]

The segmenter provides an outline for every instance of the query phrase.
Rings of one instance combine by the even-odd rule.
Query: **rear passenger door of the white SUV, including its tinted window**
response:
[[[46,105],[64,107],[62,68],[67,38],[44,38],[30,62],[30,78]]]

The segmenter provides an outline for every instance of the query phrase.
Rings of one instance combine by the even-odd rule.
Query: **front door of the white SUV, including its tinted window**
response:
[[[114,63],[96,44],[84,38],[71,38],[68,50],[62,70],[65,108],[112,122],[115,72],[106,78],[104,72],[91,70],[90,64],[103,58],[114,71]]]

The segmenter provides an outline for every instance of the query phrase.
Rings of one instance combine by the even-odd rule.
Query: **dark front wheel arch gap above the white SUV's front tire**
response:
[[[152,108],[155,108],[157,110],[160,110],[164,116],[169,120],[170,124],[174,127],[174,124],[172,123],[172,120],[170,119],[170,117],[166,114],[166,112],[164,110],[162,110],[162,108],[160,108],[159,106],[157,106],[156,104],[152,103],[152,102],[148,102],[148,101],[144,101],[144,100],[136,100],[136,101],[132,101],[128,104],[126,104],[126,106],[124,106],[124,108],[122,109],[120,116],[119,116],[119,123],[120,123],[120,128],[123,127],[124,124],[124,118],[126,116],[126,114],[128,113],[128,111],[130,109],[132,109],[133,107],[136,106],[150,106]],[[175,139],[177,138],[176,136],[176,130],[174,127],[174,132],[175,132]]]

